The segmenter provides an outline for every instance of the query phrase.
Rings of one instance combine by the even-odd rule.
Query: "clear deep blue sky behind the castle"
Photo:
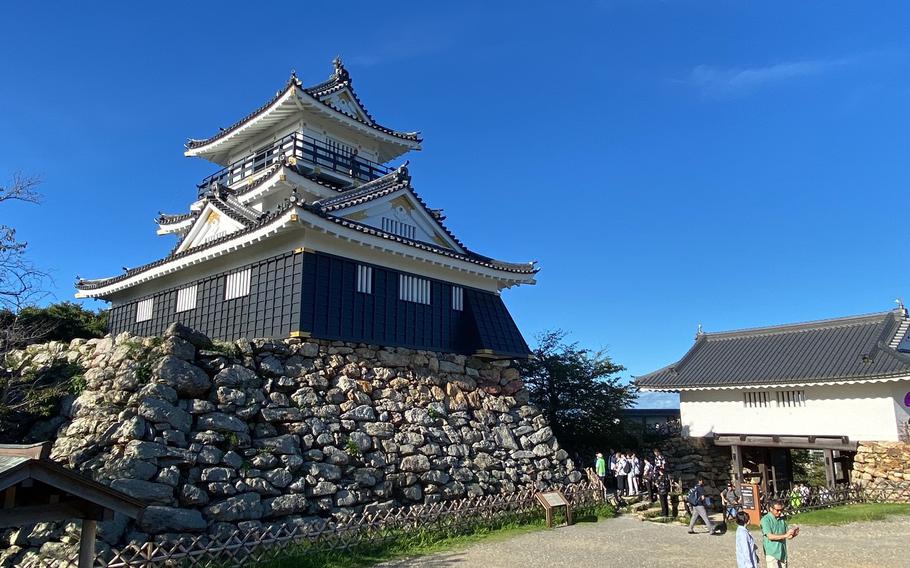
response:
[[[228,126],[341,55],[413,183],[469,247],[536,259],[504,293],[639,375],[706,331],[883,311],[908,294],[910,7],[901,2],[18,3],[0,11],[0,178],[72,297],[165,255]],[[90,304],[95,306],[97,304]],[[672,396],[644,398],[672,405]]]

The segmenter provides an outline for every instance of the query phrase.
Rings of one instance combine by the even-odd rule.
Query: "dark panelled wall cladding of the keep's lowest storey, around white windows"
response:
[[[452,309],[452,284],[430,280],[430,304],[399,299],[401,272],[375,265],[372,293],[357,291],[357,264],[323,253],[278,255],[248,265],[250,293],[224,300],[228,272],[196,282],[196,308],[177,313],[175,287],[154,295],[152,319],[136,322],[139,300],[111,308],[111,331],[161,335],[174,321],[213,339],[313,337],[427,349],[521,357],[527,344],[502,298],[464,288],[464,309]],[[247,268],[247,267],[244,267]],[[233,271],[231,271],[233,272]],[[423,276],[408,274],[409,276]]]

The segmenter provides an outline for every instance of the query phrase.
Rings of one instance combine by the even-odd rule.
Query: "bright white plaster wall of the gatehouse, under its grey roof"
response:
[[[684,431],[689,436],[793,434],[849,436],[852,441],[896,441],[901,418],[910,418],[903,405],[910,379],[802,387],[799,390],[805,391],[806,404],[795,408],[778,408],[774,389],[765,390],[771,393],[766,408],[747,408],[743,390],[681,392],[679,406]]]

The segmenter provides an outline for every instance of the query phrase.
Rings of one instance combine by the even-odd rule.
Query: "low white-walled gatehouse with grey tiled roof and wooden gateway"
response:
[[[678,362],[638,377],[676,392],[683,434],[731,446],[765,481],[789,479],[789,449],[825,450],[846,480],[858,442],[907,441],[910,317],[879,314],[699,332]],[[763,448],[762,450],[756,450]]]

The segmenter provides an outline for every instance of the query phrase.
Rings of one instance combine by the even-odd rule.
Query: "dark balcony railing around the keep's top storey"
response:
[[[292,132],[274,144],[208,176],[199,184],[199,193],[201,195],[215,183],[231,186],[283,158],[292,156],[313,169],[318,167],[321,170],[330,170],[363,182],[374,180],[392,171],[383,164],[358,156],[356,150],[347,151],[340,146],[330,147],[325,142],[301,132]]]

